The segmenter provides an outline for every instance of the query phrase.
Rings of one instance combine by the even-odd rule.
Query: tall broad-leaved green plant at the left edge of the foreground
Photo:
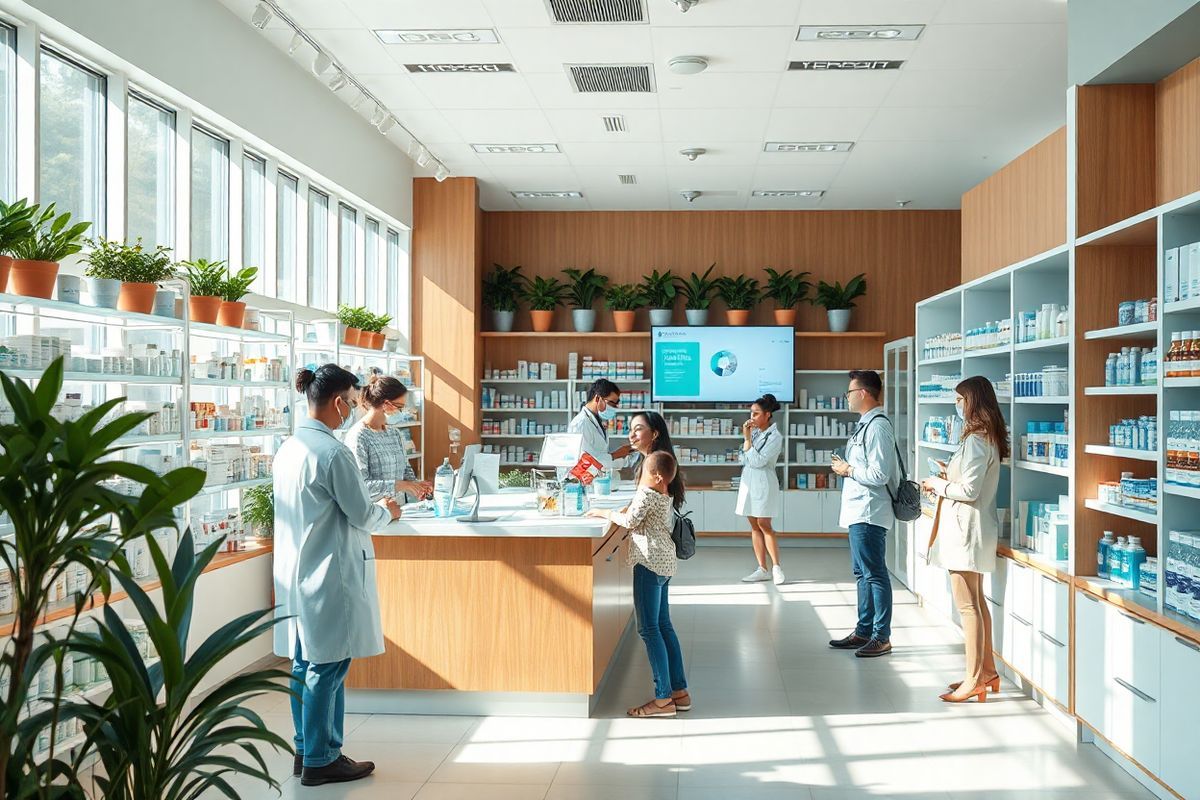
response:
[[[119,459],[120,438],[152,414],[109,419],[125,402],[116,397],[62,422],[54,405],[62,393],[62,359],[42,373],[37,389],[0,371],[0,385],[13,421],[0,425],[0,510],[11,533],[0,540],[0,563],[12,576],[16,607],[8,646],[0,655],[0,672],[10,676],[0,697],[0,796],[59,796],[53,781],[71,781],[70,765],[54,756],[35,758],[40,735],[62,716],[62,660],[59,639],[35,637],[49,606],[50,588],[66,575],[83,576],[84,588],[73,597],[73,628],[95,593],[112,591],[112,572],[128,573],[124,546],[154,530],[174,528],[175,507],[194,497],[204,473],[185,467],[156,475]],[[30,697],[31,681],[54,661],[54,691],[48,711],[24,721],[19,714]],[[83,747],[86,751],[88,747]],[[76,795],[82,796],[82,795]]]

